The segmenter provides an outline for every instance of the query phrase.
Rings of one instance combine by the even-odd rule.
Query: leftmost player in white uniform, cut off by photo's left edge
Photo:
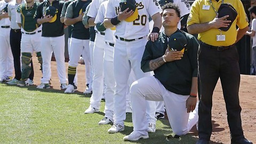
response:
[[[10,25],[7,6],[11,0],[0,1],[0,82],[11,81],[13,57],[10,46]]]

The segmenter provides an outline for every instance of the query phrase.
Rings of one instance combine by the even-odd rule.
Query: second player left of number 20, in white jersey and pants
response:
[[[98,9],[102,2],[106,0],[93,0],[89,11],[87,13],[88,16],[88,24],[89,26],[95,26],[94,20],[97,16]],[[96,35],[95,35],[95,42],[93,47],[93,85],[92,85],[92,96],[90,98],[90,106],[85,110],[85,114],[95,113],[99,111],[100,101],[102,98],[103,93],[103,55],[104,55],[104,47],[105,41],[104,36],[105,32],[100,32],[95,27]]]

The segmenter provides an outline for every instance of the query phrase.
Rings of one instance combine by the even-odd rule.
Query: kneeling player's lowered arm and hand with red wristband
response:
[[[197,96],[197,77],[192,77],[190,95],[192,95],[192,97],[189,96],[186,101],[187,113],[193,112],[196,108],[197,98],[194,96]]]

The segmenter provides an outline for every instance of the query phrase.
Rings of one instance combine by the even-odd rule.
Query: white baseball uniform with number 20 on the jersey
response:
[[[119,0],[110,0],[107,6],[105,18],[114,18],[120,10]],[[149,33],[148,18],[161,12],[161,7],[153,1],[139,0],[137,8],[139,19],[133,22],[121,21],[116,25],[116,43],[114,49],[114,75],[115,75],[115,93],[114,93],[114,123],[124,126],[125,120],[125,87],[129,78],[131,69],[133,69],[137,79],[144,77],[146,73],[140,69],[140,61],[147,43]],[[126,39],[127,41],[122,41]],[[150,104],[151,103],[151,104]],[[155,105],[155,102],[148,101],[149,105]],[[148,106],[150,108],[150,106]],[[154,106],[155,108],[155,106]],[[154,113],[147,114],[151,119],[148,122],[155,123]]]

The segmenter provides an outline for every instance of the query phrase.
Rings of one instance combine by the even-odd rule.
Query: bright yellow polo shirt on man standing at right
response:
[[[198,34],[198,39],[206,44],[213,46],[229,46],[236,42],[237,29],[236,25],[243,29],[249,25],[247,22],[247,15],[244,11],[244,6],[239,0],[225,0],[224,3],[231,4],[237,11],[238,15],[228,31],[221,31],[222,35],[225,35],[226,41],[217,41],[217,35],[220,35],[220,30],[217,28],[212,28],[203,33]],[[212,1],[213,7],[218,11],[221,1],[216,2]],[[210,10],[203,10],[203,6],[207,5],[210,7]],[[205,7],[205,6],[204,6]],[[216,16],[215,11],[210,5],[209,0],[196,0],[191,5],[191,11],[188,17],[187,26],[190,26],[194,23],[206,23],[212,21]]]

